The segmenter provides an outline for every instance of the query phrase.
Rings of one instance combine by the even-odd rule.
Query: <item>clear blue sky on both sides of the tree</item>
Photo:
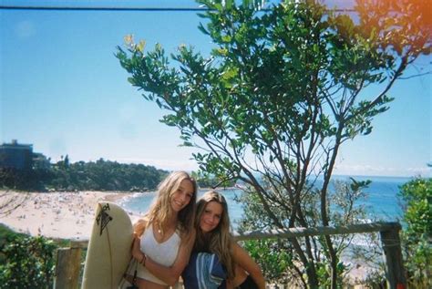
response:
[[[325,1],[349,6],[349,1]],[[1,0],[1,5],[31,1]],[[193,1],[38,1],[46,5],[197,7]],[[204,55],[211,39],[197,26],[196,12],[37,11],[0,9],[0,142],[33,144],[52,161],[117,160],[164,170],[197,170],[193,148],[179,147],[178,129],[159,122],[154,103],[140,97],[114,57],[123,37],[160,43],[168,52],[181,44]],[[421,57],[406,77],[431,70]],[[396,98],[374,120],[373,132],[348,141],[335,174],[432,176],[432,77],[401,79]]]

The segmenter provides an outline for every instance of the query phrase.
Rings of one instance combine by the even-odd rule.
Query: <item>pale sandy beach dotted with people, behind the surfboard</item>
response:
[[[0,191],[0,222],[15,232],[87,241],[98,201],[119,202],[132,193]],[[135,222],[139,216],[129,212]]]

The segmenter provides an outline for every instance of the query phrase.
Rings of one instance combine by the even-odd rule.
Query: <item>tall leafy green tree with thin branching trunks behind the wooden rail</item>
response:
[[[283,1],[265,11],[260,1],[198,2],[209,9],[199,29],[215,45],[211,56],[180,46],[171,64],[161,46],[147,52],[144,41],[127,36],[117,57],[129,82],[167,111],[161,121],[180,129],[183,145],[201,149],[193,157],[202,171],[256,193],[269,225],[333,224],[337,153],[345,140],[372,131],[396,79],[430,54],[430,2],[358,1],[356,21],[318,1]],[[368,95],[371,85],[381,92]],[[315,192],[319,175],[324,181]],[[291,243],[304,282],[318,287],[317,250],[335,288],[334,238]]]

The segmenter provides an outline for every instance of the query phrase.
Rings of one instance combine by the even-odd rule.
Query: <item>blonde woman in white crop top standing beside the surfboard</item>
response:
[[[197,183],[187,172],[172,172],[160,182],[149,212],[134,225],[132,256],[138,264],[126,275],[130,283],[165,289],[179,281],[195,240],[196,200]]]

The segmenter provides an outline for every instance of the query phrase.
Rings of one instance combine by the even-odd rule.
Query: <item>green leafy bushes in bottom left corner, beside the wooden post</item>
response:
[[[0,288],[52,288],[57,244],[0,225]]]

